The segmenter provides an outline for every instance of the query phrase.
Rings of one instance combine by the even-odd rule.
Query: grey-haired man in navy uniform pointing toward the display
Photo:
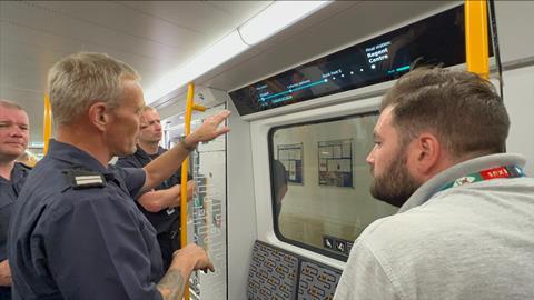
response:
[[[229,111],[207,118],[144,169],[109,168],[113,156],[136,151],[145,107],[138,73],[85,52],[59,60],[48,78],[56,140],[14,203],[13,299],[181,299],[191,271],[214,266],[187,244],[164,270],[156,231],[131,196],[170,177],[198,142],[228,132],[219,124]]]

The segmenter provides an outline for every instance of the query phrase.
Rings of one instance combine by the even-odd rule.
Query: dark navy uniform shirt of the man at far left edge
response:
[[[11,219],[14,200],[20,193],[30,168],[16,162],[11,170],[11,179],[0,176],[0,261],[8,259],[8,226]],[[0,287],[0,300],[11,299],[11,288]]]

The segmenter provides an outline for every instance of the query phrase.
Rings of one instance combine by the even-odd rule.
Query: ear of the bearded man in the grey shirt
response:
[[[443,156],[443,146],[439,140],[433,133],[423,132],[414,140],[413,147],[417,172],[423,176],[433,173]]]

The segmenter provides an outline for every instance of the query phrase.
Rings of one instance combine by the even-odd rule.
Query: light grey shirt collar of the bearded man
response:
[[[433,177],[421,186],[409,199],[400,207],[397,213],[405,212],[428,201],[439,189],[459,177],[484,169],[508,164],[525,166],[525,158],[521,154],[491,154],[463,161]]]

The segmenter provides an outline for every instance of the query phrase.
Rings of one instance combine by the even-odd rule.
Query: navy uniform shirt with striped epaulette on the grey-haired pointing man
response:
[[[145,170],[51,140],[13,209],[13,299],[161,299],[156,231],[130,196],[144,182]]]

